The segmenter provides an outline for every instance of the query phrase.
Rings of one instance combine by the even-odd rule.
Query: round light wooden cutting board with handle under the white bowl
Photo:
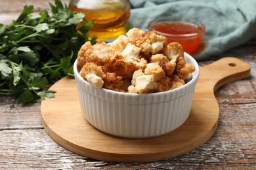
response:
[[[200,67],[190,116],[175,131],[150,139],[125,139],[98,131],[83,117],[74,78],[51,86],[56,97],[41,103],[45,131],[64,148],[95,160],[148,162],[173,158],[198,148],[215,132],[219,105],[214,92],[228,82],[249,76],[250,65],[237,58],[223,58]]]

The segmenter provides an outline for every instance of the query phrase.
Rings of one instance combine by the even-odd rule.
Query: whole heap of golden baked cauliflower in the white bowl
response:
[[[183,86],[194,72],[178,42],[154,31],[130,29],[112,44],[85,42],[77,55],[80,75],[95,88],[154,93]]]

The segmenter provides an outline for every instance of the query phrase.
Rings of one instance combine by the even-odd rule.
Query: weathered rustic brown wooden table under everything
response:
[[[68,1],[65,1],[68,2]],[[9,24],[25,4],[48,7],[39,0],[0,1],[0,23]],[[251,65],[251,76],[215,92],[219,126],[207,143],[177,158],[151,163],[114,163],[74,154],[47,135],[41,123],[41,102],[20,105],[0,95],[0,169],[256,169],[256,42],[224,52]]]

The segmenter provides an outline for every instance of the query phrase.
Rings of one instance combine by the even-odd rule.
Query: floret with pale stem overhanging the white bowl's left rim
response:
[[[79,74],[95,88],[102,88],[102,78],[106,78],[102,68],[95,63],[85,63]]]

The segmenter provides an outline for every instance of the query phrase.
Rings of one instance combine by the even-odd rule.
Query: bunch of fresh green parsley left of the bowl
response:
[[[0,24],[0,93],[16,95],[19,103],[54,97],[48,84],[73,75],[81,45],[96,42],[87,35],[93,22],[84,13],[70,11],[60,0],[49,5],[51,10],[39,14],[24,6],[18,19]]]

